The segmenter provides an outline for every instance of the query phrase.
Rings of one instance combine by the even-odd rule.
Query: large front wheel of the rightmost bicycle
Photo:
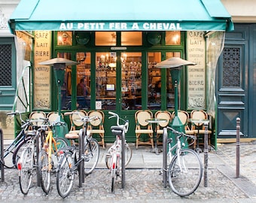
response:
[[[194,150],[181,150],[169,165],[169,185],[173,192],[180,196],[187,196],[196,191],[203,174],[200,157]]]

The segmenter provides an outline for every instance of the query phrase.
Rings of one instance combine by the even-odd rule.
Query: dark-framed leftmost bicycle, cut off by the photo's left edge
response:
[[[20,150],[22,149],[22,146],[26,143],[26,141],[29,140],[31,136],[35,135],[35,129],[33,129],[32,131],[29,131],[29,127],[32,126],[32,120],[26,120],[26,121],[23,120],[22,113],[16,111],[16,112],[8,113],[8,115],[19,115],[22,126],[20,126],[21,131],[16,136],[14,141],[12,141],[12,143],[5,148],[4,160],[0,159],[0,162],[2,162],[2,164],[6,168],[14,168],[14,167],[17,168],[17,162],[20,159]]]

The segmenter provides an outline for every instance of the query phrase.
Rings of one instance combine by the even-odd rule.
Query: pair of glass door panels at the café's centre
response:
[[[142,107],[142,53],[96,53],[96,109]]]

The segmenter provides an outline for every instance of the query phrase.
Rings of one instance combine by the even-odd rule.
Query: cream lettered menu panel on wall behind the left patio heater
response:
[[[50,110],[50,65],[39,65],[39,62],[49,60],[50,31],[35,31],[34,49],[34,109]]]

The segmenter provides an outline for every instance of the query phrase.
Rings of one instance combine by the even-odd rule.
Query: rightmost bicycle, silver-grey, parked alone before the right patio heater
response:
[[[175,152],[167,171],[169,186],[177,195],[187,196],[195,192],[200,185],[203,175],[203,164],[200,156],[198,156],[194,150],[183,147],[188,138],[194,139],[194,141],[197,138],[193,135],[186,135],[183,132],[178,132],[169,126],[167,129],[177,135],[177,142],[173,146],[171,146],[172,138],[167,140],[169,146],[168,159],[171,159],[172,152]]]

